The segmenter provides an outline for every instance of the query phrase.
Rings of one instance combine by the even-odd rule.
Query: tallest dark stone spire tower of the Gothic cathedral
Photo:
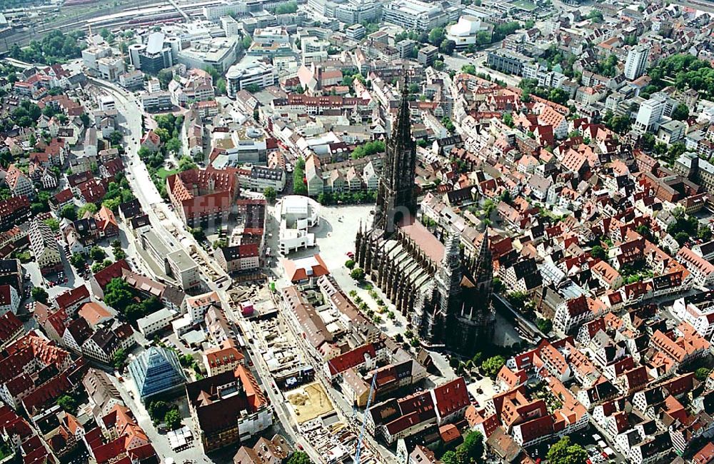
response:
[[[381,229],[383,236],[391,235],[395,224],[404,219],[412,221],[416,218],[416,144],[411,138],[407,95],[406,91],[402,94],[379,177],[374,227]]]

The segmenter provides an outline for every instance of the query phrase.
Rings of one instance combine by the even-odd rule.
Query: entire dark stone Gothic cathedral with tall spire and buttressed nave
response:
[[[416,144],[403,94],[386,144],[371,228],[360,227],[356,261],[407,316],[427,348],[473,355],[491,343],[493,271],[488,231],[465,256],[456,231],[439,241],[417,221]]]

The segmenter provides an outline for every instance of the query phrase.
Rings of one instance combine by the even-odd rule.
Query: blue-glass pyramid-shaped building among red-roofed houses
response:
[[[158,346],[152,346],[131,361],[129,373],[142,401],[160,393],[170,393],[186,383],[176,353]]]

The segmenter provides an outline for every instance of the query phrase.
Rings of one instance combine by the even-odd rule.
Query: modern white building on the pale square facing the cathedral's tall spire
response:
[[[307,196],[289,195],[282,199],[280,211],[281,253],[314,246],[315,234],[310,229],[320,223],[320,203]]]

